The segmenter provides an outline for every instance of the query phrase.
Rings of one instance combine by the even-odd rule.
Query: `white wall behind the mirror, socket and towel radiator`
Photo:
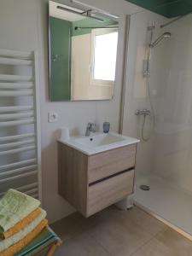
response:
[[[125,15],[142,9],[124,0],[86,0],[86,3],[106,9],[117,15]],[[119,48],[122,49],[122,30]],[[84,132],[89,121],[102,125],[111,123],[113,131],[119,128],[120,80],[122,51],[118,59],[117,80],[113,101],[105,102],[49,102],[48,73],[48,1],[47,0],[1,0],[0,2],[0,48],[15,50],[38,50],[40,68],[40,102],[42,127],[43,200],[49,221],[67,216],[73,207],[57,194],[56,138],[59,128],[66,125],[74,132]],[[48,123],[49,111],[59,114],[57,123]]]

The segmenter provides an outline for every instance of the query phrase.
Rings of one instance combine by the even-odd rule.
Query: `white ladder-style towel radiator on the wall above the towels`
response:
[[[14,188],[42,201],[38,53],[0,49],[0,67],[30,70],[30,75],[13,74],[13,69],[0,73],[0,131],[11,129],[0,137],[0,157],[7,160],[5,164],[0,160],[0,196]],[[25,130],[25,125],[32,125],[32,131]],[[28,152],[32,157],[18,157]]]

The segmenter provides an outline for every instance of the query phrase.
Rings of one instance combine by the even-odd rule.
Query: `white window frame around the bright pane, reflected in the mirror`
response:
[[[113,86],[114,80],[102,80],[94,79],[94,67],[95,67],[95,38],[99,35],[105,35],[112,32],[118,32],[118,28],[96,28],[91,31],[91,53],[90,53],[90,85],[101,85],[101,86]]]

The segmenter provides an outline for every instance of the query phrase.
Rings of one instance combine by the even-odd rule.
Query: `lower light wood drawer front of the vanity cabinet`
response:
[[[123,172],[88,188],[87,217],[133,192],[134,170]]]

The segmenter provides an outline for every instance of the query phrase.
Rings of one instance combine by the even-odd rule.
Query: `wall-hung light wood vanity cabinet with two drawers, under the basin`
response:
[[[137,143],[87,155],[58,143],[59,194],[85,217],[131,195]]]

